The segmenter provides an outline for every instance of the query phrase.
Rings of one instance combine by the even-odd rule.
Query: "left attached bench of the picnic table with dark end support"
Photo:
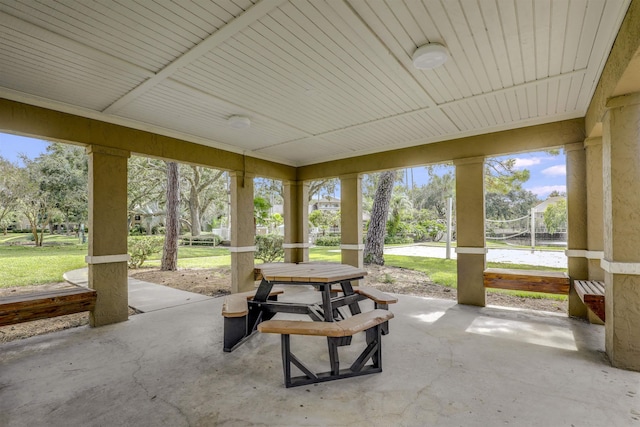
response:
[[[278,295],[284,293],[282,289],[273,288],[269,292],[270,300],[277,300]],[[225,352],[233,351],[253,334],[254,326],[248,324],[249,303],[256,291],[238,292],[224,297],[222,316],[224,317],[224,346]]]

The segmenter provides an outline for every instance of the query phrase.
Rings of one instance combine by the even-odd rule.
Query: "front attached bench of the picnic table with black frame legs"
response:
[[[262,333],[280,334],[282,345],[282,366],[285,387],[296,387],[324,381],[332,381],[359,375],[382,372],[382,331],[381,325],[393,318],[388,310],[376,309],[355,314],[339,322],[312,322],[305,320],[267,320],[258,325]],[[366,332],[367,347],[349,368],[340,369],[338,347],[351,344],[351,338],[358,332]],[[330,371],[314,373],[291,352],[291,335],[312,335],[327,337]],[[371,359],[371,364],[366,363]],[[304,375],[292,377],[291,364]]]

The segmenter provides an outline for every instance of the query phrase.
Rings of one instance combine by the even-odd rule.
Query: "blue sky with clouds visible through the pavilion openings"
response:
[[[48,142],[39,139],[0,133],[0,157],[14,163],[21,164],[18,157],[21,153],[26,154],[29,158],[37,157],[45,152],[47,145]],[[507,157],[516,159],[517,169],[529,169],[531,178],[523,187],[537,195],[539,199],[545,200],[554,190],[567,191],[564,152],[557,156],[546,152],[535,152]],[[417,186],[424,185],[429,181],[429,175],[424,167],[413,168],[408,172],[408,175],[409,184],[411,183],[411,175]]]

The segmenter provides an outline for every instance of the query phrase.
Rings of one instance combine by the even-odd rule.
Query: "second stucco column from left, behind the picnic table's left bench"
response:
[[[253,216],[253,175],[236,171],[231,180],[231,292],[246,292],[255,288],[253,260],[255,221]]]

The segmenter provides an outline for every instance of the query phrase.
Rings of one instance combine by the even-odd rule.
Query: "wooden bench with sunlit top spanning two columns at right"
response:
[[[569,295],[569,276],[562,271],[487,268],[483,276],[485,288]]]

